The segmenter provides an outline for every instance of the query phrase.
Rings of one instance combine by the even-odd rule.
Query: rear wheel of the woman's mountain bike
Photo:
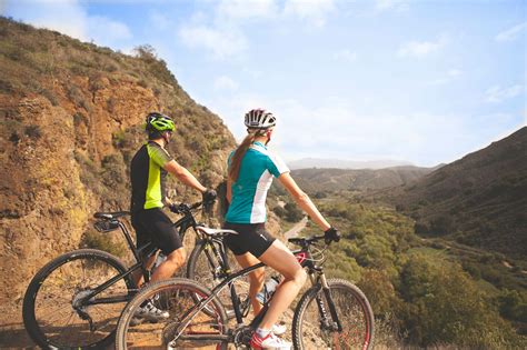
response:
[[[172,278],[149,284],[136,294],[122,310],[116,332],[116,349],[160,349],[161,347],[168,349],[168,343],[180,326],[180,318],[197,304],[196,296],[205,299],[209,294],[209,289],[185,278]],[[155,323],[138,320],[135,317],[136,311],[147,301],[152,302],[160,310],[168,311],[170,317]],[[183,338],[189,334],[191,337],[215,334],[227,338],[228,319],[223,306],[215,298],[207,308],[209,311],[216,311],[213,317],[205,310],[199,311],[181,330]],[[227,340],[178,339],[173,348],[196,349],[211,344],[216,344],[216,349],[227,350],[228,342]]]

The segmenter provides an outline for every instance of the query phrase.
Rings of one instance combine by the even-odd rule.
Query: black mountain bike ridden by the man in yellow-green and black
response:
[[[182,214],[173,223],[181,241],[189,228],[196,230],[193,211],[201,206],[181,203],[171,208]],[[33,277],[23,298],[22,316],[26,330],[38,346],[101,349],[113,341],[119,314],[138,291],[132,273],[140,271],[148,282],[151,271],[143,262],[158,251],[152,244],[136,248],[122,221],[129,214],[97,212],[93,226],[105,233],[121,230],[135,259],[130,268],[108,252],[79,249],[48,262]]]

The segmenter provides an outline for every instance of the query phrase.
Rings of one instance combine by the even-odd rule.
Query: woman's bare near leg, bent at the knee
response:
[[[284,274],[285,278],[278,286],[269,310],[259,324],[259,328],[270,330],[272,324],[277,322],[278,318],[297,297],[306,282],[307,274],[300,263],[298,263],[297,258],[295,258],[291,251],[279,240],[275,240],[258,259]]]

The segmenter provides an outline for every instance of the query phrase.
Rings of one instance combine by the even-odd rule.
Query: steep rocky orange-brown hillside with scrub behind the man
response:
[[[146,46],[113,52],[0,18],[0,302],[19,302],[98,210],[127,210],[128,163],[149,111],[175,118],[170,152],[209,187],[235,140]],[[177,199],[196,196],[172,180]],[[9,300],[9,302],[8,302]]]

